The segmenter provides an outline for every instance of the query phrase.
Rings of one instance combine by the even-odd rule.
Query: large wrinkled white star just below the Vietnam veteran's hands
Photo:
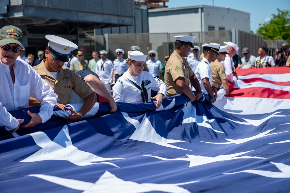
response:
[[[65,160],[75,165],[85,166],[93,164],[109,164],[119,167],[108,160],[125,159],[125,158],[103,158],[95,154],[79,150],[72,144],[70,135],[68,134],[68,126],[64,125],[62,130],[57,134],[53,141],[44,132],[35,132],[29,134],[34,139],[36,145],[41,147],[28,158],[20,162],[35,162],[44,160]],[[98,163],[92,163],[98,162]]]

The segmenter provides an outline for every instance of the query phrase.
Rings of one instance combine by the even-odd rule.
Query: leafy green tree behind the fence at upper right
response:
[[[264,39],[282,39],[290,43],[290,10],[278,9],[278,14],[272,14],[273,18],[259,24],[256,34],[263,35]]]

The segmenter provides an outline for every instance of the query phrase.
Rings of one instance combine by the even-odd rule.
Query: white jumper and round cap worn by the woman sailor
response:
[[[128,57],[133,61],[145,61],[147,55],[139,51],[129,51]],[[164,82],[146,71],[142,71],[141,74],[133,77],[129,73],[129,70],[130,69],[128,69],[113,86],[113,99],[116,102],[143,103],[141,90],[136,87],[136,85],[138,85],[142,88],[142,82],[144,82],[144,90],[146,89],[147,91],[148,101],[151,97],[151,89],[157,91],[157,93],[162,93],[163,98],[165,98],[167,86]]]

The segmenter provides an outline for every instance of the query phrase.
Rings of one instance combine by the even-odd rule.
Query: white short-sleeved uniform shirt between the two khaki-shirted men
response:
[[[194,72],[196,78],[198,79],[200,83],[200,88],[202,93],[208,94],[207,91],[204,88],[204,85],[202,83],[202,79],[209,78],[209,83],[212,83],[213,75],[212,75],[211,65],[209,64],[209,61],[206,58],[202,58],[200,63],[198,63],[196,70]]]

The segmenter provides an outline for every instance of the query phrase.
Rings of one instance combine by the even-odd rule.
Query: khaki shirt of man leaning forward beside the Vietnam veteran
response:
[[[86,84],[83,79],[74,71],[67,68],[61,68],[57,73],[57,79],[55,79],[44,65],[46,59],[33,68],[43,78],[58,95],[57,102],[61,104],[70,104],[70,95],[73,91],[85,100],[88,95],[93,93],[92,88]]]

